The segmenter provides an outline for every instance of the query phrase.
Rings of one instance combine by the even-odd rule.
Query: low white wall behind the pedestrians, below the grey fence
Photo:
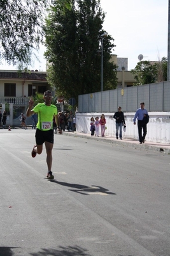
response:
[[[115,113],[104,113],[106,118],[105,135],[116,137]],[[170,143],[170,112],[149,113],[150,122],[147,124],[146,141]],[[76,113],[76,131],[90,133],[90,118],[101,116],[101,113]],[[134,113],[124,113],[126,132],[123,131],[123,138],[138,140],[138,125],[133,124]]]

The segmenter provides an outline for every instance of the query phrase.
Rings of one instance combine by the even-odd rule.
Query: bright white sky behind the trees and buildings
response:
[[[159,61],[167,57],[168,0],[101,0],[106,13],[103,29],[114,38],[113,54],[128,58],[128,70],[135,68],[139,54],[143,60]],[[32,70],[46,71],[41,45]],[[0,69],[15,70],[6,63]]]

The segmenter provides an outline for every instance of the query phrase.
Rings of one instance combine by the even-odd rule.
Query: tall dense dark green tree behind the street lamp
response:
[[[105,14],[99,0],[72,0],[71,10],[62,11],[59,1],[46,19],[48,83],[65,99],[101,90],[101,38]],[[104,90],[117,86],[116,65],[110,62],[115,45],[103,40]],[[77,102],[77,101],[76,101]]]

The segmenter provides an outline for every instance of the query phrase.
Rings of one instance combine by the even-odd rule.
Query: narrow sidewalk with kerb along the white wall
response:
[[[113,143],[113,144],[119,144],[124,145],[126,147],[135,147],[135,148],[144,148],[145,150],[154,150],[159,151],[162,153],[170,154],[170,144],[163,144],[163,143],[157,143],[157,142],[150,142],[145,141],[145,143],[139,144],[139,141],[137,140],[130,140],[130,139],[123,139],[123,140],[117,140],[116,138],[105,136],[102,138],[101,136],[91,136],[89,133],[81,133],[81,132],[68,132],[65,131],[63,134],[67,136],[80,136],[81,138],[87,138],[88,140],[102,140],[104,142]]]

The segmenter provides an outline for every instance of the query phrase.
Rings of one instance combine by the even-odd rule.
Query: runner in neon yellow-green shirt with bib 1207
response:
[[[27,109],[27,116],[38,113],[38,124],[36,129],[36,145],[34,145],[31,156],[35,157],[36,154],[41,154],[43,151],[43,143],[46,148],[46,164],[48,167],[47,179],[54,179],[52,175],[52,148],[53,148],[53,116],[58,126],[58,131],[61,132],[59,127],[59,119],[57,115],[57,107],[51,104],[52,93],[48,90],[44,93],[44,103],[39,103],[33,108],[34,101],[29,100],[29,107]],[[32,109],[33,108],[33,109]]]

